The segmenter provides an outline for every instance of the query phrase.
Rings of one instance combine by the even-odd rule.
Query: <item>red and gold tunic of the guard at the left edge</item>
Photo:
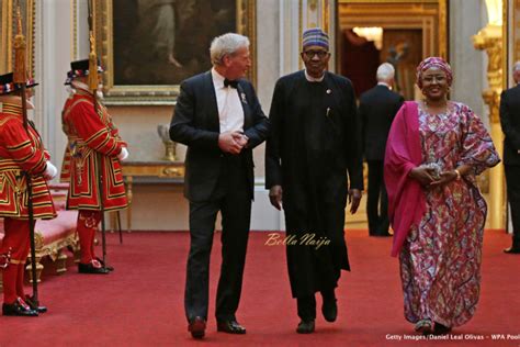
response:
[[[36,130],[23,127],[22,108],[2,103],[0,111],[0,216],[29,219],[27,181],[31,175],[33,215],[37,219],[56,216],[45,172],[48,153]]]

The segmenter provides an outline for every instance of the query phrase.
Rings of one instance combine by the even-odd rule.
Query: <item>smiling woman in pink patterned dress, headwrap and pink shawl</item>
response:
[[[445,334],[474,315],[487,206],[476,176],[500,159],[479,117],[448,100],[450,65],[417,68],[425,99],[394,120],[385,157],[392,255],[399,255],[405,317],[422,334]]]

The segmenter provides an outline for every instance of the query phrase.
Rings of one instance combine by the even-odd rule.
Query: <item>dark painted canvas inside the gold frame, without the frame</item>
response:
[[[237,0],[113,0],[115,86],[171,86],[211,68],[211,40],[237,30]]]

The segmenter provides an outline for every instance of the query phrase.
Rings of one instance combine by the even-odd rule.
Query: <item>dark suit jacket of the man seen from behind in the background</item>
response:
[[[383,160],[392,121],[404,99],[386,86],[375,86],[360,98],[363,155],[366,160]]]

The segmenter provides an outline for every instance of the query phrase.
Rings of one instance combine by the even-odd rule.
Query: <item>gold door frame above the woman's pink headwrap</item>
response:
[[[338,0],[337,27],[420,29],[422,56],[448,58],[446,7],[446,0]]]

